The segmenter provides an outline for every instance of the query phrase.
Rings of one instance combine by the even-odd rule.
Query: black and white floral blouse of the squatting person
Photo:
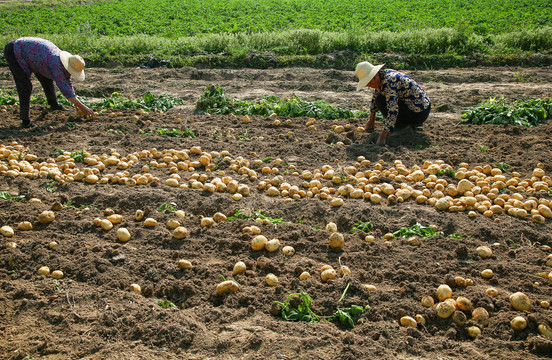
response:
[[[425,91],[409,76],[391,69],[380,70],[379,75],[380,86],[374,91],[370,111],[373,113],[377,111],[376,96],[378,94],[385,96],[387,119],[384,123],[384,129],[388,132],[393,131],[397,122],[399,101],[417,113],[426,110],[431,104]]]

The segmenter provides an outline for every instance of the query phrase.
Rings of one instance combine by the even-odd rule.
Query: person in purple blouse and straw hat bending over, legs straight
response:
[[[57,101],[55,81],[67,100],[86,117],[94,116],[94,112],[77,99],[71,82],[71,78],[84,80],[84,60],[80,56],[61,51],[50,41],[34,37],[10,41],[4,48],[4,56],[15,80],[19,95],[19,117],[23,127],[33,126],[29,118],[33,73],[42,84],[52,110],[63,109]]]

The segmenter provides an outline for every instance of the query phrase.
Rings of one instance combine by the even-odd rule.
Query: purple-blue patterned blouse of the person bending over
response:
[[[75,97],[70,74],[59,59],[61,50],[56,45],[45,39],[23,37],[14,41],[13,50],[27,75],[37,73],[54,80],[66,98]]]

